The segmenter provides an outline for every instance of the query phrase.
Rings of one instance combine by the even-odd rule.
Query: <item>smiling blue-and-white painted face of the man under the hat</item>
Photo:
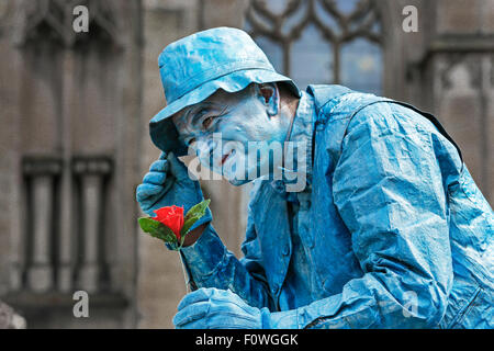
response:
[[[289,110],[280,107],[276,83],[250,84],[237,93],[218,90],[182,110],[173,122],[201,165],[240,185],[281,166],[276,156],[282,152]]]

